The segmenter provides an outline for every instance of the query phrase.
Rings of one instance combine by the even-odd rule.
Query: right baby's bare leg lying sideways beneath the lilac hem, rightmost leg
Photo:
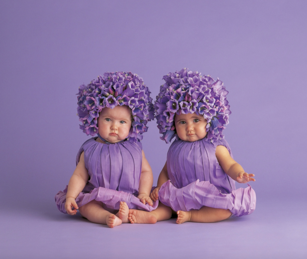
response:
[[[230,218],[231,215],[232,213],[230,212],[230,210],[216,209],[204,206],[200,208],[200,210],[178,210],[176,223],[181,224],[186,221],[202,223],[218,222]]]

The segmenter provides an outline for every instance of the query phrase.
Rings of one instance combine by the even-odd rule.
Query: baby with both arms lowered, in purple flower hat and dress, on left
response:
[[[77,155],[66,189],[56,194],[63,213],[80,214],[109,227],[130,222],[129,208],[151,211],[151,167],[142,150],[142,133],[153,119],[150,92],[131,72],[105,73],[78,96],[80,128],[98,137],[87,140]]]

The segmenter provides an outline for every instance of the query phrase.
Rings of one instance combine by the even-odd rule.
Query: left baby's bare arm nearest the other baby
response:
[[[153,201],[150,199],[149,194],[153,186],[153,172],[145,157],[144,151],[142,151],[142,170],[140,177],[140,184],[138,187],[138,198],[145,204],[146,202],[153,206]]]

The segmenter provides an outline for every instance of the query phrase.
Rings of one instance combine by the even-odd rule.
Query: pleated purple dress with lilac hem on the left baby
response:
[[[76,163],[79,163],[81,153],[84,152],[85,167],[89,180],[76,198],[79,207],[96,200],[103,202],[103,207],[114,213],[119,210],[119,202],[126,202],[129,209],[151,211],[157,208],[144,205],[138,198],[138,187],[142,170],[142,144],[123,141],[113,144],[97,142],[96,138],[88,139],[81,146]],[[65,210],[67,187],[59,191],[56,196],[57,208]]]

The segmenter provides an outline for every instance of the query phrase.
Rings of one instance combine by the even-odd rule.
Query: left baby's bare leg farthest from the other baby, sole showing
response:
[[[102,202],[97,202],[95,200],[79,207],[79,212],[89,221],[99,224],[106,224],[110,228],[122,224],[122,220],[119,217],[116,217],[111,212],[105,210]]]

